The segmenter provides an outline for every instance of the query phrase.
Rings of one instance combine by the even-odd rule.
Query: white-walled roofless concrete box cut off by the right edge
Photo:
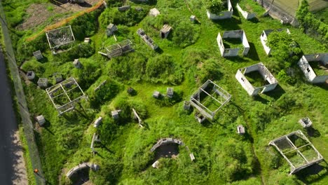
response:
[[[303,55],[297,64],[310,83],[328,83],[328,53]],[[322,71],[322,75],[317,75],[310,64]]]

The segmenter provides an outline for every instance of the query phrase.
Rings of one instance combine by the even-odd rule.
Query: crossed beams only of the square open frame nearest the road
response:
[[[74,88],[69,88],[69,90],[65,90],[63,86],[67,85],[67,84],[76,85],[76,86]],[[71,97],[69,97],[69,95],[67,95],[67,93],[71,90],[76,89],[76,88],[78,88],[80,90],[81,96],[71,100]],[[53,93],[56,93],[58,90],[61,90],[63,93],[60,93],[59,95],[53,96]],[[81,89],[80,85],[78,85],[75,78],[73,78],[73,77],[68,78],[65,81],[62,81],[61,83],[57,83],[56,85],[53,85],[50,88],[47,88],[46,92],[47,92],[51,102],[53,102],[53,105],[55,106],[55,109],[57,109],[57,111],[59,112],[60,115],[64,114],[65,112],[74,110],[75,103],[78,102],[79,100],[81,100],[82,98],[86,97],[86,95],[84,94],[84,92]],[[65,104],[62,104],[62,105],[55,104],[54,99],[56,97],[62,97],[62,96],[66,96],[69,101]]]

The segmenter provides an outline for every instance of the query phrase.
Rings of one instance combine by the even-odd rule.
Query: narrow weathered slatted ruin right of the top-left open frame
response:
[[[121,56],[125,53],[129,53],[129,52],[132,52],[134,51],[133,47],[132,47],[132,42],[127,39],[127,40],[124,40],[124,41],[121,41],[119,43],[115,43],[111,46],[108,46],[106,48],[106,54],[102,54],[102,55],[106,55],[107,57],[109,58],[113,58],[113,57],[118,57],[118,56]]]

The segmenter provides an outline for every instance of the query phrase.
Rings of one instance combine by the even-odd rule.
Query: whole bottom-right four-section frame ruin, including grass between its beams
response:
[[[275,146],[275,149],[287,160],[290,165],[289,174],[324,160],[301,130],[273,139],[269,145]]]

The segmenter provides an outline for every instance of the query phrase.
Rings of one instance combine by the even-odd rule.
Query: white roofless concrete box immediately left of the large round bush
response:
[[[228,41],[237,41],[240,46],[238,48],[231,47]],[[223,36],[221,34],[217,34],[217,44],[219,45],[219,50],[222,57],[236,57],[240,55],[240,51],[242,50],[241,55],[247,55],[250,50],[250,44],[247,41],[246,34],[244,30],[233,30],[224,32]]]

